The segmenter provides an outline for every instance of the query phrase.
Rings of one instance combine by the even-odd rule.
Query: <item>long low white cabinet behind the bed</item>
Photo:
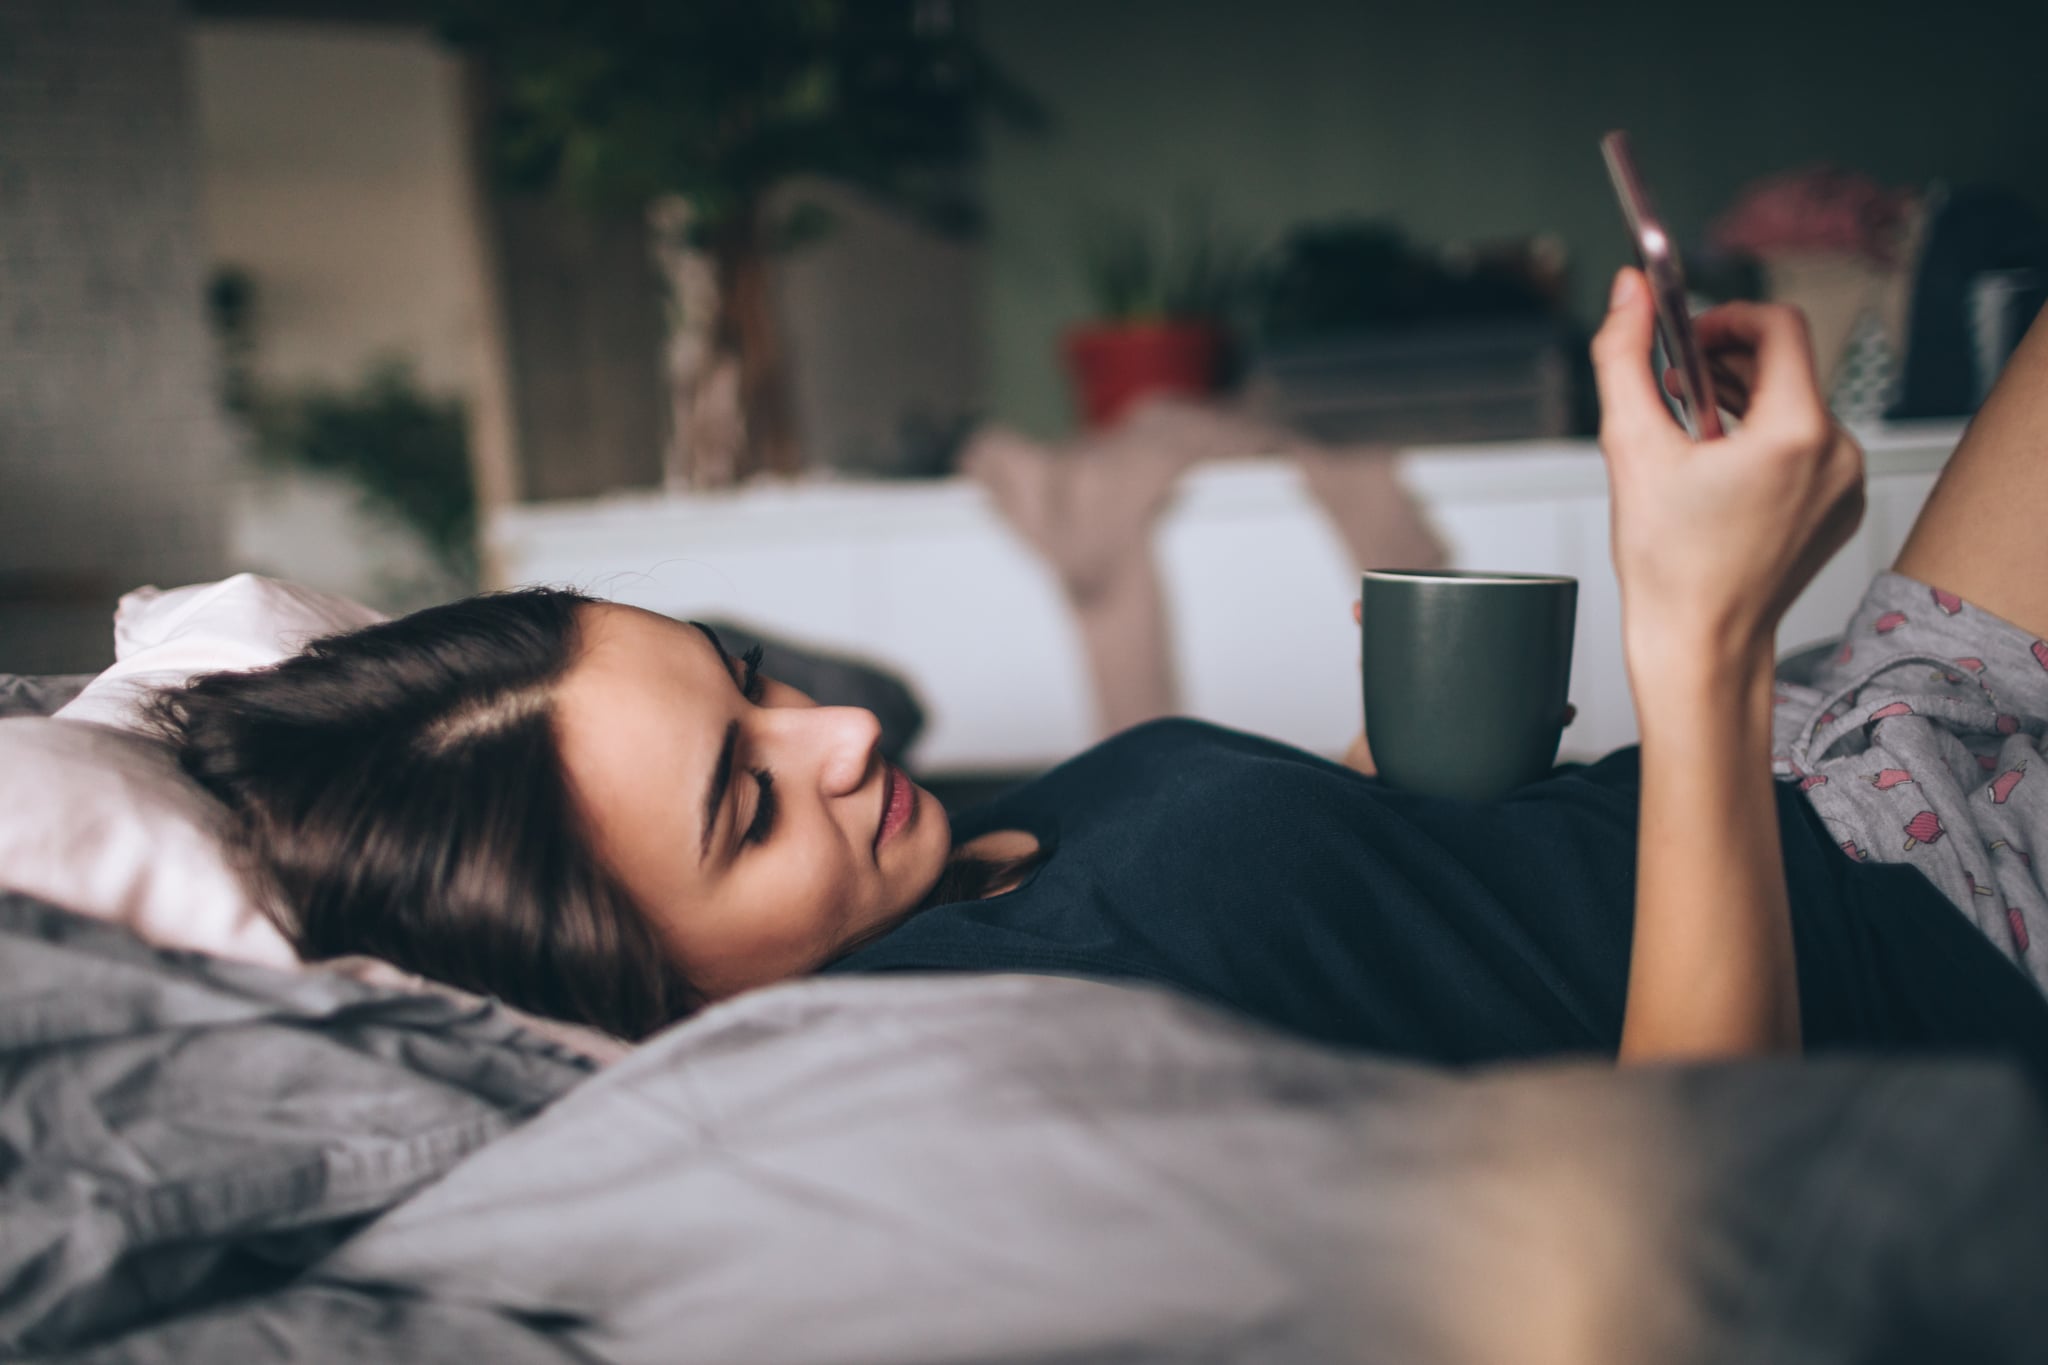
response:
[[[1794,604],[1796,647],[1841,628],[1896,555],[1956,424],[1864,434],[1870,514]],[[1571,755],[1636,735],[1591,442],[1442,446],[1401,479],[1460,567],[1577,575]],[[864,655],[918,688],[928,772],[1032,769],[1087,747],[1094,704],[1059,583],[973,483],[809,483],[500,512],[506,581],[571,583],[672,616],[729,616]],[[1182,710],[1337,753],[1358,733],[1358,575],[1296,469],[1194,469],[1155,528]],[[1513,667],[1503,659],[1501,667]]]

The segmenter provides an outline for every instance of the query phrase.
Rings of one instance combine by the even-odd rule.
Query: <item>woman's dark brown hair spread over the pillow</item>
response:
[[[571,591],[426,608],[152,702],[301,956],[643,1038],[702,1001],[598,860],[553,731]]]

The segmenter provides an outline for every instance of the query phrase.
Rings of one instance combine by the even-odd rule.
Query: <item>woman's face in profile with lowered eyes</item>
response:
[[[907,915],[946,866],[881,724],[750,677],[702,626],[584,608],[555,735],[598,855],[709,999],[803,976]]]

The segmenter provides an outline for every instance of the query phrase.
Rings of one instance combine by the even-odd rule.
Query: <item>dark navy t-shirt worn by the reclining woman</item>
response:
[[[1778,823],[1810,1048],[2005,1050],[2048,1074],[2048,1003],[1919,872],[1851,862],[1786,786]],[[1049,849],[1024,886],[920,911],[825,970],[1153,980],[1436,1062],[1620,1040],[1634,749],[1464,802],[1159,720],[969,812],[956,837],[993,829]]]

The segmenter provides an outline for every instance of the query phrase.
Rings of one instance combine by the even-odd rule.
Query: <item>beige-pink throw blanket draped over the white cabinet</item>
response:
[[[1108,432],[1047,446],[983,428],[961,467],[995,497],[1073,606],[1102,735],[1178,708],[1151,524],[1182,471],[1272,454],[1300,467],[1356,565],[1427,569],[1444,544],[1395,481],[1386,446],[1329,448],[1223,407],[1155,399]]]

